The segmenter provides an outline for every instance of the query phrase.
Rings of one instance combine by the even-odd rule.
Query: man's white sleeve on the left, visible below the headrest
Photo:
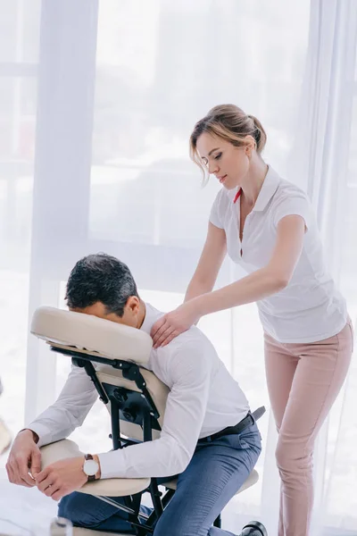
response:
[[[81,426],[97,397],[86,371],[72,366],[60,396],[26,428],[37,433],[38,447],[63,440]]]

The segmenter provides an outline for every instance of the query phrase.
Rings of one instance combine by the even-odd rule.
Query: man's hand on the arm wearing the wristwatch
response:
[[[83,464],[84,457],[80,456],[48,465],[37,474],[38,490],[54,500],[60,500],[72,491],[80,490],[87,482],[87,475],[83,473]]]

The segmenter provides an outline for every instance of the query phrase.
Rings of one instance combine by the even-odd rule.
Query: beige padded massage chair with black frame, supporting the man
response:
[[[76,316],[73,316],[73,314]],[[48,315],[51,316],[51,330],[48,328]],[[69,315],[71,315],[70,318]],[[71,357],[73,365],[86,371],[95,385],[98,397],[103,401],[111,415],[111,439],[114,450],[128,448],[138,442],[157,439],[160,437],[160,431],[162,430],[166,399],[170,391],[154,373],[145,369],[145,364],[150,356],[151,339],[148,345],[142,335],[147,338],[149,336],[140,333],[142,340],[140,340],[138,362],[144,366],[135,363],[132,355],[129,357],[130,360],[125,358],[128,345],[128,340],[125,337],[128,331],[121,331],[122,326],[118,324],[106,326],[106,328],[111,328],[112,331],[117,330],[120,335],[119,339],[115,341],[115,344],[118,345],[115,355],[113,353],[109,355],[109,352],[105,353],[99,348],[99,351],[97,351],[93,342],[95,339],[94,328],[96,324],[101,328],[103,322],[95,322],[100,321],[100,319],[91,318],[89,322],[92,325],[88,324],[88,334],[90,333],[88,336],[92,340],[87,347],[91,349],[85,348],[83,342],[79,346],[75,346],[75,334],[68,338],[64,336],[63,330],[67,330],[68,326],[73,326],[75,322],[87,322],[87,319],[83,318],[87,316],[86,314],[56,310],[52,307],[40,307],[34,314],[31,332],[37,337],[45,339],[54,352]],[[64,323],[62,318],[65,320]],[[53,329],[53,322],[59,322],[57,330]],[[108,321],[104,322],[107,323]],[[96,331],[96,334],[98,337],[103,338],[103,333],[100,332],[100,329]],[[131,333],[129,334],[131,337],[129,340],[130,345],[135,344],[135,337]],[[86,333],[82,333],[82,336],[85,337]],[[122,345],[120,345],[120,339],[122,339]],[[58,459],[80,456],[81,454],[77,445],[71,440],[62,440],[52,445],[47,445],[41,448],[41,453],[43,466],[54,463]],[[137,536],[145,536],[154,532],[155,524],[176,490],[176,479],[172,480],[171,478],[170,480],[170,475],[168,475],[168,482],[162,484],[162,480],[160,479],[160,485],[165,487],[164,493],[159,490],[158,480],[154,477],[143,479],[116,478],[87,482],[79,491],[94,495],[98,499],[124,511],[129,515],[129,523],[131,523]],[[253,471],[241,490],[250,487],[257,480],[258,473]],[[140,513],[141,518],[146,517],[145,523],[143,523],[139,521],[138,515],[141,499],[145,492],[150,494],[154,510],[149,516]],[[115,501],[116,497],[123,499],[124,505],[118,504]],[[220,516],[216,519],[214,525],[220,526]],[[256,534],[258,533],[263,534],[263,532],[256,532]]]

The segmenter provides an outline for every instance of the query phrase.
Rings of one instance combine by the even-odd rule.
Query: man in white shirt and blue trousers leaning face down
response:
[[[94,314],[146,333],[163,314],[138,296],[128,266],[104,254],[88,255],[75,265],[66,300],[71,311]],[[153,348],[147,368],[170,388],[161,438],[92,453],[97,464],[95,478],[179,474],[178,489],[154,536],[231,534],[212,523],[245,482],[261,452],[261,436],[248,415],[244,393],[196,327],[166,347]],[[10,482],[36,485],[48,497],[62,498],[59,515],[73,523],[102,531],[129,531],[119,509],[75,491],[87,482],[82,457],[40,471],[39,447],[68,437],[83,423],[96,398],[87,373],[73,367],[54,405],[19,432],[6,469]],[[234,433],[226,430],[238,423]]]

